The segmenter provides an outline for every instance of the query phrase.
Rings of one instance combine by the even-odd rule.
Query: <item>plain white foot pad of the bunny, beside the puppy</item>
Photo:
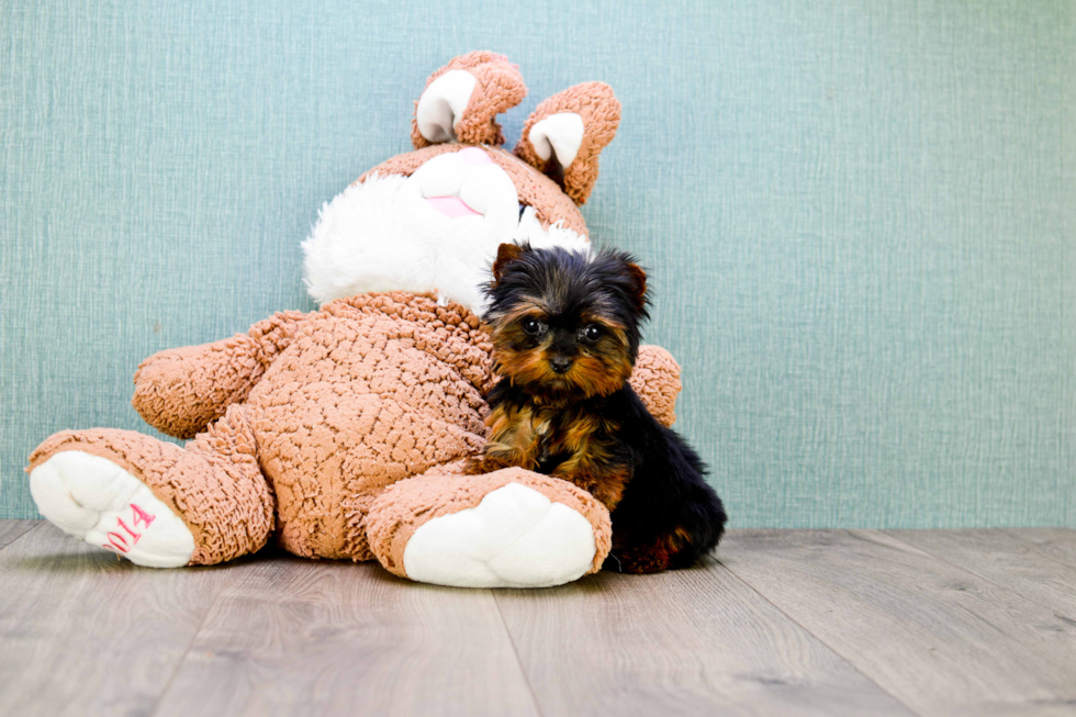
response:
[[[404,570],[438,585],[549,587],[583,576],[595,550],[585,517],[508,483],[473,508],[419,526],[404,549]]]

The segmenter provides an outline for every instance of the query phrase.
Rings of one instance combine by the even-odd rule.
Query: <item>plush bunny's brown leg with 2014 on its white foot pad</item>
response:
[[[42,515],[139,565],[231,560],[272,530],[272,493],[238,406],[186,448],[131,430],[65,430],[37,447],[27,470]]]

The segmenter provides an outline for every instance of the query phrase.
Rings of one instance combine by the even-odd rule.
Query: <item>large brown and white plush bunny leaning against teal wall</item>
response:
[[[446,585],[546,586],[599,570],[612,526],[589,493],[523,469],[461,472],[484,445],[493,381],[479,285],[504,242],[587,250],[576,204],[619,122],[607,86],[579,85],[538,105],[512,155],[494,120],[525,94],[493,53],[435,72],[415,152],[360,177],[303,245],[321,310],[146,359],[134,406],[193,440],[55,434],[27,469],[42,515],[157,568],[232,560],[272,538]],[[672,357],[643,347],[631,382],[672,423]]]

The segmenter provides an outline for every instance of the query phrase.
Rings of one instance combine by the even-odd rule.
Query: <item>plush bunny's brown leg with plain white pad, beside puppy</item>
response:
[[[520,468],[400,481],[367,516],[370,549],[390,572],[459,587],[571,582],[602,568],[612,533],[586,491]]]

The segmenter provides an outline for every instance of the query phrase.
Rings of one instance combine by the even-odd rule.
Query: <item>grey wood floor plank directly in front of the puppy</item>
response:
[[[547,717],[911,714],[717,563],[496,600]]]

